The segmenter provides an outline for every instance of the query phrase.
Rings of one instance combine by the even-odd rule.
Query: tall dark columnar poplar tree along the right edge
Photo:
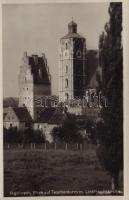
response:
[[[109,16],[99,41],[102,82],[99,78],[98,87],[108,100],[108,107],[102,108],[96,130],[100,162],[111,174],[112,189],[117,190],[119,172],[123,168],[122,4],[110,3]]]

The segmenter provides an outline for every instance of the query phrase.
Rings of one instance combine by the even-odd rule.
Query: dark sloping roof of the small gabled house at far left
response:
[[[25,107],[14,107],[15,114],[17,115],[20,122],[31,122],[32,118]]]

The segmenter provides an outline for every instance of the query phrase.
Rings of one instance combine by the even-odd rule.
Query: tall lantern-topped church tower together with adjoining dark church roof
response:
[[[68,34],[60,39],[58,94],[60,101],[85,96],[97,86],[98,50],[87,50],[86,39],[77,33],[77,24],[68,24]],[[92,91],[91,91],[92,92]]]

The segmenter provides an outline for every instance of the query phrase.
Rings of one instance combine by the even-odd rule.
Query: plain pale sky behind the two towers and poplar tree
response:
[[[108,3],[3,5],[4,97],[18,97],[18,73],[24,51],[46,54],[52,75],[52,93],[58,90],[59,38],[73,20],[86,38],[87,49],[97,49],[99,35],[109,19]]]

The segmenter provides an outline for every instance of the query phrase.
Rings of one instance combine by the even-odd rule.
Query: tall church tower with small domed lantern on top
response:
[[[68,34],[60,39],[59,99],[82,98],[85,90],[85,38],[77,33],[77,24],[68,24]]]

